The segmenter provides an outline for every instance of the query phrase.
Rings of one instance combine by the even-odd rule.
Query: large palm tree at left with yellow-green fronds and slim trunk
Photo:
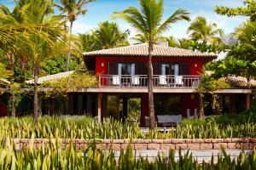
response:
[[[32,62],[34,75],[34,120],[38,122],[38,70],[40,62],[49,57],[58,40],[67,38],[65,22],[61,16],[50,16],[53,4],[48,0],[20,1],[23,6],[23,20],[18,22],[3,10],[0,10],[0,48],[7,51],[24,47],[26,58]],[[21,4],[19,2],[19,4]],[[24,3],[25,2],[25,3]],[[12,28],[12,29],[10,29]],[[26,49],[25,49],[26,48]]]

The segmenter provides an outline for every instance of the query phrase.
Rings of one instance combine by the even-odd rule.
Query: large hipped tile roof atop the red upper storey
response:
[[[121,48],[109,48],[84,53],[84,56],[94,55],[122,55],[122,56],[147,56],[148,43],[131,45]],[[154,45],[153,56],[157,57],[209,57],[217,58],[216,54],[201,53],[183,48],[172,48],[163,45]]]

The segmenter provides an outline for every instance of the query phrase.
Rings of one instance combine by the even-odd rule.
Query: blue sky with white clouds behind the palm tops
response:
[[[0,0],[1,3],[6,4],[10,8],[14,6],[13,0]],[[185,8],[189,10],[191,19],[194,20],[196,16],[204,16],[208,21],[215,22],[218,27],[223,28],[225,34],[230,34],[236,26],[241,25],[246,17],[232,17],[221,16],[214,13],[216,5],[223,5],[228,7],[241,6],[243,0],[165,0],[165,14],[164,19],[171,15],[177,8]],[[97,24],[104,20],[111,20],[110,16],[113,11],[121,11],[129,6],[138,7],[138,0],[96,0],[95,3],[88,5],[88,13],[80,16],[75,21],[73,32],[84,33],[96,28]],[[136,34],[129,24],[122,20],[113,20],[119,23],[121,30],[130,29],[131,37]],[[187,28],[188,22],[180,21],[172,26],[170,31],[165,33],[165,36],[173,36],[177,38],[188,37]]]

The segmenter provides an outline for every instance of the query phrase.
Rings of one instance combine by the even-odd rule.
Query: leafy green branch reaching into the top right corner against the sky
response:
[[[238,8],[227,8],[222,6],[217,6],[215,8],[217,14],[223,14],[228,16],[249,16],[251,20],[256,20],[256,1],[255,0],[245,0],[244,7]]]

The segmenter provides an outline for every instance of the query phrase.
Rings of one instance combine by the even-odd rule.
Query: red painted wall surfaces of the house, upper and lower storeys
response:
[[[189,75],[201,75],[203,65],[209,60],[201,57],[153,57],[152,63],[168,63],[178,62],[189,65]],[[96,57],[96,75],[108,75],[108,63],[125,63],[134,62],[147,64],[147,57],[127,57],[127,56],[97,56]],[[171,94],[172,95],[172,94]],[[198,94],[181,94],[182,95],[182,115],[187,116],[189,109],[190,115],[195,114],[195,110],[199,109],[199,95]],[[144,124],[143,117],[148,116],[148,94],[141,95],[141,122]],[[165,101],[164,101],[165,102]]]

